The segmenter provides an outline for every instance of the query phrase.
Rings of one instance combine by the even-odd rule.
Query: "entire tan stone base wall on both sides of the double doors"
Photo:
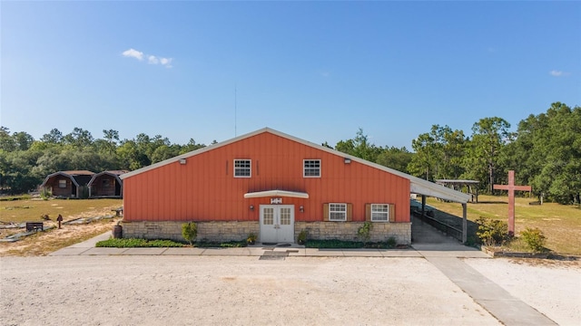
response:
[[[182,224],[179,222],[123,222],[123,237],[143,239],[170,239],[184,241]],[[259,235],[258,221],[251,222],[196,222],[198,225],[197,240],[231,241],[244,240],[250,233]],[[357,241],[357,230],[363,222],[295,222],[295,238],[300,231],[309,231],[309,239],[330,240],[339,239]],[[411,223],[373,223],[369,241],[386,241],[395,237],[399,245],[411,244]]]

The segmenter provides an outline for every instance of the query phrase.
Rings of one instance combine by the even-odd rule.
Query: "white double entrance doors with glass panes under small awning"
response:
[[[293,205],[261,205],[261,242],[294,243]]]

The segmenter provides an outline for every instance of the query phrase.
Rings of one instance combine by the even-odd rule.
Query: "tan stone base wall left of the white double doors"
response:
[[[182,236],[184,223],[187,222],[123,222],[123,237],[184,241]],[[198,225],[196,239],[209,241],[244,240],[251,232],[258,235],[260,226],[258,221],[196,222],[196,224]]]

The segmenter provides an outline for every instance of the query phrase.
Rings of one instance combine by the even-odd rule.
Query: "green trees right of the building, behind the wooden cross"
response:
[[[323,144],[326,145],[326,144]],[[448,126],[433,125],[406,148],[370,144],[359,129],[354,139],[341,140],[335,149],[395,168],[430,181],[478,180],[480,191],[491,194],[495,184],[507,183],[516,171],[517,184],[531,185],[533,193],[561,204],[581,203],[581,107],[555,102],[545,113],[529,115],[510,131],[498,117],[475,122],[471,135]]]

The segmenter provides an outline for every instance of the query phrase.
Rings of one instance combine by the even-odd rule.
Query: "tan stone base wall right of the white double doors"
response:
[[[357,230],[363,222],[296,222],[294,234],[307,230],[309,239],[359,241]],[[393,236],[398,245],[411,244],[411,223],[373,223],[371,242],[382,242]]]

